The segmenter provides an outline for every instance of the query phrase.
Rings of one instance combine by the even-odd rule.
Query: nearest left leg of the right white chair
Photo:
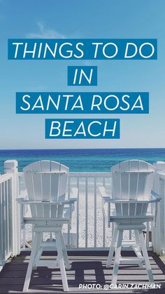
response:
[[[119,269],[120,253],[121,253],[121,248],[122,248],[122,234],[123,234],[123,231],[119,230],[118,237],[117,237],[117,248],[115,251],[115,262],[114,262],[114,267],[113,267],[113,279],[112,279],[113,285],[116,285],[116,283],[117,283],[117,273],[118,273],[118,269]]]

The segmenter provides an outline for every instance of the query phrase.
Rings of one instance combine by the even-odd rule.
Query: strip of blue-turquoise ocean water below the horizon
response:
[[[120,161],[141,159],[153,163],[165,161],[164,149],[20,149],[0,150],[0,173],[3,162],[18,161],[18,170],[41,159],[59,161],[69,166],[71,172],[109,172]]]

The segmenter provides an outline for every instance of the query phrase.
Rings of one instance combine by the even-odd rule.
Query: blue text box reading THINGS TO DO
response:
[[[157,39],[8,39],[9,60],[156,60]]]

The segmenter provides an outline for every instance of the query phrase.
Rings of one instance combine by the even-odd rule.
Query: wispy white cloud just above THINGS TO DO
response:
[[[42,22],[37,22],[39,29],[38,33],[27,34],[28,38],[41,38],[41,39],[64,39],[65,36],[59,34],[55,29],[46,29]]]

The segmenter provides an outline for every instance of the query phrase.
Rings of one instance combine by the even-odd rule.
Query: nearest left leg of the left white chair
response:
[[[36,253],[37,253],[37,245],[38,245],[38,237],[39,237],[38,232],[35,232],[34,234],[34,242],[33,242],[33,247],[31,249],[31,255],[30,255],[30,259],[29,259],[29,265],[27,268],[27,274],[24,280],[24,288],[23,288],[23,292],[27,292],[29,289],[29,283],[30,283],[30,279],[31,279],[31,272],[33,269],[33,264],[34,264],[34,259],[36,257]]]

